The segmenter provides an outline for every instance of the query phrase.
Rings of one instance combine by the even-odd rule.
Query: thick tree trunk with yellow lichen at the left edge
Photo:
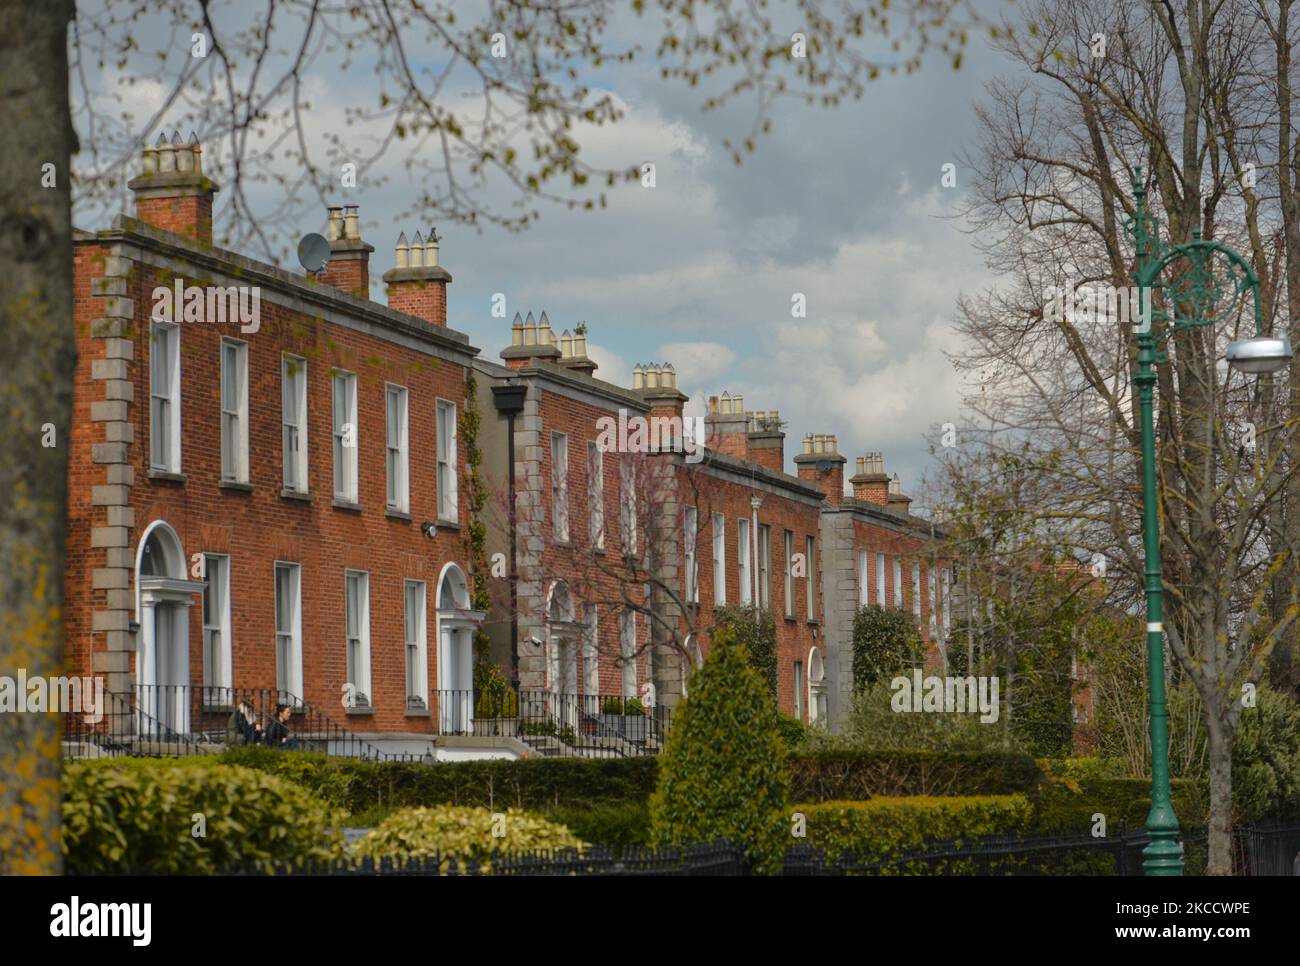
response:
[[[0,675],[62,673],[73,255],[66,0],[0,0]],[[43,186],[42,182],[53,186]],[[18,694],[20,710],[26,694]],[[60,718],[0,714],[0,874],[62,870]]]

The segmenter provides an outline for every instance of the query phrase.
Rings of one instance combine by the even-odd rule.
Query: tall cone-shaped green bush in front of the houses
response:
[[[779,872],[786,781],[776,703],[744,645],[724,627],[673,715],[650,797],[653,841],[727,839],[745,849],[755,872]]]

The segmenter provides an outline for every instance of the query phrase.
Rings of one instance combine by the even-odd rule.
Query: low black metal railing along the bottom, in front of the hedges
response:
[[[1204,871],[1205,831],[1183,836],[1187,872]],[[1078,836],[989,837],[936,842],[922,850],[828,857],[810,845],[785,854],[785,875],[1141,875],[1145,829],[1093,839]],[[1234,872],[1243,876],[1300,875],[1300,822],[1261,823],[1235,832]],[[1200,855],[1200,858],[1197,858]],[[744,850],[729,842],[688,846],[608,848],[494,853],[482,859],[421,857],[281,863],[240,867],[230,875],[748,875]],[[69,870],[75,872],[75,870]]]

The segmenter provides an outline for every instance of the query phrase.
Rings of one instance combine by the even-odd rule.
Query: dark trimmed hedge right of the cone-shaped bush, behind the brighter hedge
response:
[[[987,796],[1031,792],[1043,770],[1017,751],[823,750],[789,759],[790,797],[802,802],[875,796]]]

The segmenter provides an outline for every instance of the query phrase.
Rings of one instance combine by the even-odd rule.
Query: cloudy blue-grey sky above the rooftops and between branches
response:
[[[623,23],[623,35],[637,23]],[[174,49],[187,38],[153,25],[140,46]],[[656,35],[637,39],[653,49]],[[439,226],[455,277],[450,324],[495,360],[510,319],[491,317],[494,293],[506,294],[510,316],[545,309],[556,332],[586,321],[601,377],[630,385],[634,364],[672,363],[692,395],[688,412],[703,412],[703,399],[723,390],[742,393],[746,408],[780,410],[788,471],[805,433],[833,433],[850,464],[881,450],[910,491],[931,462],[927,436],[961,423],[959,380],[945,355],[961,348],[954,302],[991,281],[965,225],[949,217],[962,172],[945,189],[942,165],[972,144],[984,82],[1009,69],[975,39],[958,73],[935,59],[835,109],[777,105],[772,134],[741,166],[722,143],[741,114],[703,112],[699,92],[662,81],[653,57],[589,78],[625,117],[585,131],[584,155],[611,166],[654,161],[656,186],[620,185],[603,211],[543,204],[540,224],[521,234]],[[309,138],[338,129],[347,105],[377,98],[365,70],[317,69],[308,81]],[[107,68],[91,72],[90,86],[136,118],[161,112],[169,127],[165,83],[124,85]],[[83,126],[79,134],[84,140]],[[369,183],[335,199],[360,204],[378,300],[396,234],[428,228],[398,217],[416,189],[404,157],[385,156]],[[280,200],[269,190],[250,196],[268,211]],[[218,233],[222,202],[218,194]],[[105,216],[81,205],[74,221],[98,228]],[[300,233],[324,231],[315,203],[292,217]],[[794,293],[806,296],[805,319],[792,317]]]

